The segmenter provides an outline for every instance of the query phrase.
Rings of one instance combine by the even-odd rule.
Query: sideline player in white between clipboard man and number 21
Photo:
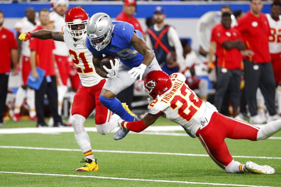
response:
[[[53,12],[50,13],[50,22],[53,25],[53,31],[62,32],[62,27],[65,25],[64,15],[68,8],[68,0],[52,0],[51,9]],[[79,87],[79,76],[77,74],[70,74],[71,66],[73,65],[68,61],[69,52],[67,45],[63,41],[55,41],[55,49],[53,54],[55,56],[55,61],[57,64],[57,91],[58,91],[58,113],[62,115],[62,102],[63,98],[67,92],[67,79],[70,78],[71,81],[71,97],[70,103],[73,102],[74,92]],[[71,121],[71,117],[69,118]],[[53,120],[50,120],[52,123]],[[70,122],[71,123],[71,122]]]

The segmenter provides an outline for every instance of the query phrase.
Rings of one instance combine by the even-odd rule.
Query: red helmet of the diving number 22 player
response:
[[[143,88],[153,99],[172,87],[170,76],[164,71],[150,71],[144,79]]]

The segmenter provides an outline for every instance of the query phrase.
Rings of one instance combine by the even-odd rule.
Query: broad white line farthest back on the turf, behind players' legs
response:
[[[256,125],[257,127],[262,127],[263,125]],[[97,132],[96,127],[86,127],[87,132]],[[116,132],[119,128],[116,128],[112,132]],[[181,126],[170,125],[170,126],[150,126],[145,131],[133,134],[147,134],[147,135],[164,135],[164,136],[184,136],[190,137],[186,133],[176,133],[173,131],[184,132]],[[37,127],[25,127],[25,128],[5,128],[0,129],[0,134],[27,134],[27,133],[40,133],[40,134],[59,134],[62,132],[73,132],[72,127],[61,127],[61,128],[37,128]],[[281,140],[281,137],[269,137],[268,139]]]

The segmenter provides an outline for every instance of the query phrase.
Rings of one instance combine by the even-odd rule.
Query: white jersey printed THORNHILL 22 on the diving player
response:
[[[193,135],[204,128],[217,109],[196,96],[185,84],[185,76],[180,73],[170,75],[172,87],[160,97],[153,100],[147,107],[148,113],[165,113],[166,118],[184,126]]]

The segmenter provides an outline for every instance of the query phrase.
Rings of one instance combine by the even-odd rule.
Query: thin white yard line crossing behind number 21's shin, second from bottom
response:
[[[24,147],[24,146],[0,146],[7,149],[33,149],[33,150],[49,150],[49,151],[81,151],[80,149],[63,149],[63,148],[47,148],[47,147]],[[115,150],[92,150],[94,152],[105,153],[132,153],[132,154],[152,154],[152,155],[178,155],[178,156],[209,156],[204,154],[190,153],[169,153],[169,152],[143,152],[143,151],[115,151]],[[261,158],[261,159],[281,159],[281,157],[266,156],[232,156],[234,158]]]

